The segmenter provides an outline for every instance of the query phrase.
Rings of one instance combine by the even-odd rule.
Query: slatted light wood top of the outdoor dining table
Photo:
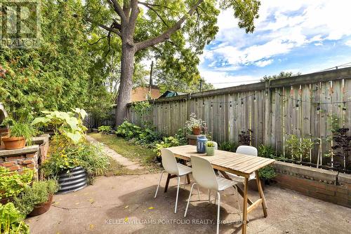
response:
[[[256,170],[274,163],[274,159],[249,156],[242,153],[216,150],[214,156],[206,156],[206,153],[197,153],[197,147],[191,145],[174,146],[167,148],[177,158],[190,160],[191,156],[203,156],[208,160],[214,169],[230,172],[242,177],[249,178]]]

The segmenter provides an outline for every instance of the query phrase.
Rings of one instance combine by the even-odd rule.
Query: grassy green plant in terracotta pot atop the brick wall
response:
[[[27,145],[32,144],[32,137],[37,134],[37,130],[32,125],[13,120],[8,120],[6,123],[10,124],[10,134],[1,138],[5,149],[22,149],[26,142]]]

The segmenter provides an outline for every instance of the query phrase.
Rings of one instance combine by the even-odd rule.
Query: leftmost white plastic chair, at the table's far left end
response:
[[[185,186],[186,179],[187,179],[186,175],[192,172],[192,168],[187,167],[183,164],[177,163],[177,160],[174,157],[172,151],[169,151],[168,149],[161,149],[161,157],[162,157],[162,165],[164,166],[164,170],[161,172],[161,177],[159,178],[159,184],[161,183],[162,174],[164,174],[164,172],[168,172],[168,174],[175,174],[178,177],[176,206],[174,207],[174,213],[177,213],[180,177],[185,176],[185,182],[184,182],[184,186]],[[159,185],[157,185],[154,198],[156,198],[157,196],[157,191],[159,191]]]

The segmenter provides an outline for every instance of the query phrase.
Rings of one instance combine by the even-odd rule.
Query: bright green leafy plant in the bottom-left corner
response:
[[[27,234],[29,227],[23,221],[24,217],[15,208],[12,202],[6,205],[0,203],[0,233]]]

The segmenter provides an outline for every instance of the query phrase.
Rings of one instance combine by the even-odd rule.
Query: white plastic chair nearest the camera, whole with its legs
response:
[[[220,223],[220,191],[225,190],[234,186],[234,191],[237,191],[237,182],[230,179],[225,179],[223,177],[217,177],[213,167],[208,160],[201,158],[199,156],[191,156],[192,161],[192,177],[195,182],[192,184],[192,188],[197,184],[203,188],[207,188],[209,191],[214,190],[217,192],[216,198],[218,197],[218,210],[217,210],[217,233],[219,233],[219,223]],[[198,188],[199,188],[198,186]],[[187,208],[189,207],[190,197],[192,195],[192,188],[190,189],[189,199],[187,200],[187,207],[185,209],[184,217],[187,216]],[[238,205],[239,203],[239,193],[237,193]],[[210,202],[210,199],[208,199]],[[216,204],[216,199],[215,199]],[[241,216],[241,215],[240,215]]]

